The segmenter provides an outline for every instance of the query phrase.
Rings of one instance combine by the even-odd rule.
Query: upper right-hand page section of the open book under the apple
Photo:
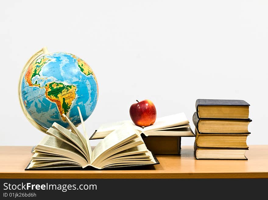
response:
[[[161,128],[174,127],[178,125],[189,124],[184,113],[173,114],[161,118],[157,118],[153,125],[143,128],[143,133],[146,131],[158,130]]]

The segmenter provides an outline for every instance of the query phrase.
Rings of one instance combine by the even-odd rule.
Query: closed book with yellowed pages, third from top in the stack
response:
[[[248,148],[247,137],[249,134],[201,134],[195,129],[196,145],[199,147],[214,148]]]

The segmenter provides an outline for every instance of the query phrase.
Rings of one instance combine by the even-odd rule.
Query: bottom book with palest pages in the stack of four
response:
[[[249,148],[208,148],[199,147],[194,142],[194,156],[197,160],[248,160],[245,156]]]

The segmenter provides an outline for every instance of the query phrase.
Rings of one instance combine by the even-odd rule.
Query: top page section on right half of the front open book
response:
[[[137,138],[138,134],[138,131],[134,129],[132,125],[122,125],[120,128],[107,135],[96,145],[95,149],[92,151],[91,163],[93,163],[98,156],[107,152],[111,148],[116,148]]]

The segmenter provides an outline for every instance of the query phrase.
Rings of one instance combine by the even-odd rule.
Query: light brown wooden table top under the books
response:
[[[160,164],[146,170],[25,171],[32,146],[0,146],[0,178],[268,178],[268,145],[249,146],[249,160],[196,160],[193,146],[181,156],[157,156]]]

